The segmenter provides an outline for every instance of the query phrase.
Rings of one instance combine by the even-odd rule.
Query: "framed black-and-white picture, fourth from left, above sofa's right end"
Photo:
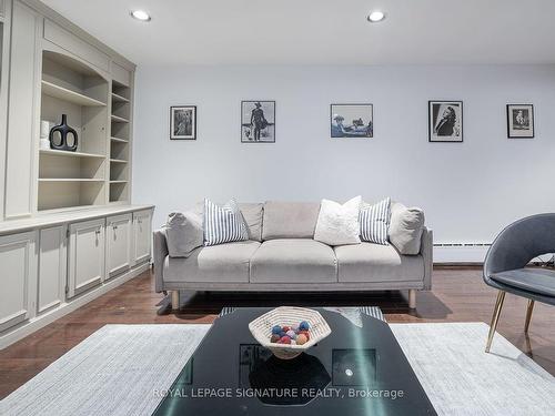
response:
[[[428,140],[438,143],[463,141],[462,101],[428,101]]]

